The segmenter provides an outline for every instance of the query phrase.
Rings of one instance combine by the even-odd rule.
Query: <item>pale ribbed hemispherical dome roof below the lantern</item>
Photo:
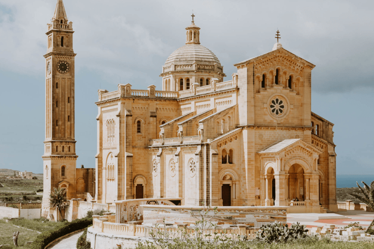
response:
[[[165,67],[174,65],[192,65],[194,63],[200,65],[214,65],[217,63],[221,67],[221,63],[217,56],[206,47],[200,44],[186,44],[185,46],[171,53],[165,62]]]

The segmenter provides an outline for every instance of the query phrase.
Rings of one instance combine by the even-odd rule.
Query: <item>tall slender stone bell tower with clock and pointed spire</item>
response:
[[[49,195],[55,187],[65,188],[68,199],[76,196],[75,94],[73,22],[57,0],[52,23],[47,24],[45,58],[45,140],[43,158],[42,215],[50,218]]]

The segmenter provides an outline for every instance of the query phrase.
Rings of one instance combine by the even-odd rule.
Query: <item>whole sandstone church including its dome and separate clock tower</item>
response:
[[[58,0],[45,55],[44,190],[64,184],[79,197],[80,177],[98,203],[180,197],[182,205],[337,211],[334,124],[311,111],[315,65],[277,42],[224,80],[193,19],[186,44],[166,59],[161,90],[98,90],[89,191],[93,181],[75,169],[73,32]]]

